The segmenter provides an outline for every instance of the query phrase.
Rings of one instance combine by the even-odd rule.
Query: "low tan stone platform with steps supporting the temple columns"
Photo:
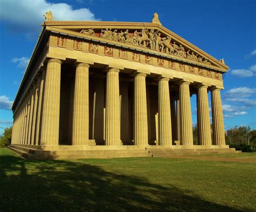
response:
[[[169,155],[237,154],[235,148],[225,146],[35,146],[9,147],[25,159],[86,159],[132,158]]]

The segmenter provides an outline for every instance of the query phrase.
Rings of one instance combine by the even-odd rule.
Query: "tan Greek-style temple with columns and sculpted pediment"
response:
[[[27,159],[238,153],[225,145],[224,59],[164,28],[157,13],[151,23],[44,17],[12,105],[12,151]]]

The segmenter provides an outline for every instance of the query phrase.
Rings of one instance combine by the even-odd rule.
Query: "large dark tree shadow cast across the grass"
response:
[[[238,211],[81,161],[0,156],[0,211]]]

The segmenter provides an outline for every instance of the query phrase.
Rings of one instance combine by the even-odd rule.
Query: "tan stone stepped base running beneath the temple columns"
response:
[[[89,148],[70,148],[58,149],[53,151],[42,151],[36,148],[30,148],[31,145],[17,146],[11,145],[9,148],[15,153],[23,156],[25,159],[46,160],[46,159],[83,159],[83,158],[132,158],[132,157],[148,157],[148,156],[171,156],[171,155],[202,155],[202,154],[238,154],[241,151],[235,151],[234,148],[209,148],[209,149],[175,149],[175,148],[120,148],[110,149],[103,147],[98,149]]]

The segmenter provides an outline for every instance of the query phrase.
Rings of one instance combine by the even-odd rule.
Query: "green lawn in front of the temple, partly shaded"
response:
[[[26,161],[0,148],[0,179],[1,212],[255,211],[256,163],[249,162]]]

